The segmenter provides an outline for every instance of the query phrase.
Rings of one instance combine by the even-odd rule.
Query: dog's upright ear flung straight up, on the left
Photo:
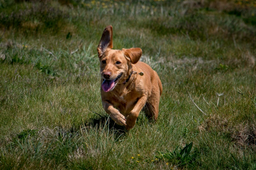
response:
[[[112,26],[110,25],[105,28],[101,36],[100,43],[97,48],[99,57],[101,57],[102,53],[104,53],[108,48],[113,48],[112,40]]]

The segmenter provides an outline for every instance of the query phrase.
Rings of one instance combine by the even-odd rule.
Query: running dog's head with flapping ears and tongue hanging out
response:
[[[132,64],[136,64],[142,54],[140,48],[112,50],[112,26],[105,28],[98,45],[100,73],[103,79],[102,89],[109,92],[117,84],[124,83],[131,73]]]

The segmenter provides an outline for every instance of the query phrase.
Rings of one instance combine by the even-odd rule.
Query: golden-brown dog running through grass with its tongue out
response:
[[[104,110],[127,130],[135,126],[142,109],[150,120],[156,121],[162,95],[157,72],[139,61],[140,48],[112,50],[112,39],[112,26],[108,26],[97,48]]]

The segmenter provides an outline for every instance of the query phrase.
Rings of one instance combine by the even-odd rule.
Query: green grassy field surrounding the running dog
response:
[[[102,108],[108,25],[160,76],[156,123]],[[254,0],[0,0],[0,169],[256,169],[255,57]]]

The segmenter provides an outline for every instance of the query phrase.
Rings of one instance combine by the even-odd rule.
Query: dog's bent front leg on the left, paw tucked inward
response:
[[[102,106],[104,110],[110,115],[112,120],[114,120],[119,125],[126,126],[125,116],[122,115],[117,109],[115,109],[111,103],[103,100]]]

